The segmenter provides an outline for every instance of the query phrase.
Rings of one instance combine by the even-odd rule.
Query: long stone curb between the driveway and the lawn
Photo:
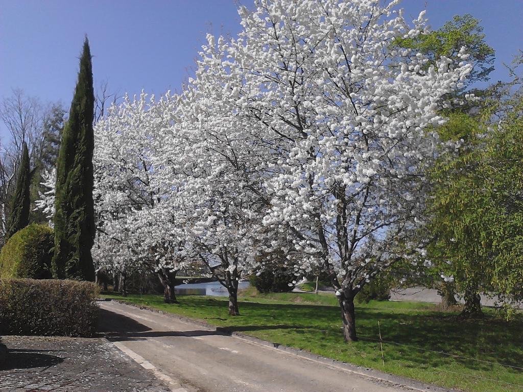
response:
[[[111,301],[117,302],[122,305],[127,305],[127,306],[131,306],[131,307],[143,309],[143,310],[149,310],[150,312],[162,314],[167,317],[171,317],[171,318],[174,318],[174,319],[177,319],[180,321],[187,322],[188,324],[198,325],[198,326],[207,328],[209,331],[215,331],[215,332],[221,333],[224,336],[231,336],[231,337],[235,337],[238,339],[246,340],[246,341],[254,343],[254,344],[264,345],[265,347],[275,349],[275,350],[280,350],[287,354],[298,356],[300,358],[304,358],[304,359],[307,359],[307,360],[310,360],[313,362],[318,362],[323,365],[341,368],[350,373],[354,373],[354,374],[357,374],[357,375],[360,375],[360,376],[363,376],[366,378],[371,378],[375,382],[378,381],[380,383],[386,383],[386,384],[389,384],[392,386],[404,387],[404,388],[408,388],[408,389],[412,389],[412,390],[416,390],[416,391],[420,391],[420,392],[459,392],[458,389],[443,388],[443,387],[439,387],[436,385],[427,384],[427,383],[423,383],[420,381],[415,381],[411,378],[396,376],[393,374],[381,372],[379,370],[374,370],[374,369],[371,369],[368,367],[357,366],[357,365],[353,365],[353,364],[350,364],[347,362],[334,360],[332,358],[327,358],[322,355],[313,354],[307,350],[297,349],[294,347],[288,347],[286,345],[281,345],[279,343],[259,339],[254,336],[245,335],[245,333],[234,331],[233,329],[230,329],[228,327],[215,326],[215,325],[209,324],[208,322],[200,320],[200,319],[195,319],[195,318],[190,318],[190,317],[186,317],[186,316],[176,315],[173,313],[164,312],[163,310],[156,309],[151,306],[136,305],[136,304],[129,303],[127,301],[122,301],[121,299],[111,299]]]

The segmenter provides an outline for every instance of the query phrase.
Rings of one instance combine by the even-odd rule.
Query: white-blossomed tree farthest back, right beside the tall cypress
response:
[[[133,270],[154,271],[166,302],[176,302],[176,271],[186,260],[185,209],[163,147],[172,136],[173,103],[168,94],[157,102],[145,94],[126,97],[97,122],[94,156],[98,268],[124,278]]]

